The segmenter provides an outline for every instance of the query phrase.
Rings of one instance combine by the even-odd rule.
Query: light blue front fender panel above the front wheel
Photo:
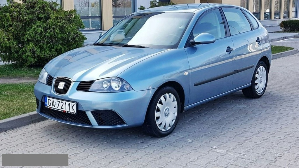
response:
[[[184,72],[188,72],[184,75]],[[135,91],[158,88],[170,81],[184,89],[185,103],[190,91],[190,66],[184,49],[171,49],[145,59],[123,71],[118,77],[126,80]]]

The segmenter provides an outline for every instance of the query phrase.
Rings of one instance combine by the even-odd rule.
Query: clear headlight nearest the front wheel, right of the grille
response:
[[[119,92],[128,90],[133,89],[125,80],[118,77],[112,77],[94,81],[88,91]]]

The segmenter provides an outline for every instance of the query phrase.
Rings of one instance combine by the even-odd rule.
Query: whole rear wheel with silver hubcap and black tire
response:
[[[266,91],[268,83],[268,68],[265,62],[260,61],[254,70],[251,79],[251,85],[248,88],[242,89],[242,93],[246,97],[259,98]]]

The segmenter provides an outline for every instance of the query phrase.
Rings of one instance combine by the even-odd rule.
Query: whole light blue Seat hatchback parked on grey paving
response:
[[[268,33],[242,7],[151,8],[48,62],[34,87],[36,111],[75,126],[143,126],[163,137],[184,110],[238,90],[261,97],[270,64]]]

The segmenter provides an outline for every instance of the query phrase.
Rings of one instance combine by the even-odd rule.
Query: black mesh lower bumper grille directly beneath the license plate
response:
[[[80,124],[80,125],[88,125],[91,126],[91,122],[89,121],[89,118],[87,117],[87,114],[85,111],[82,110],[77,110],[77,114],[69,114],[69,113],[64,113],[60,112],[57,110],[49,109],[45,107],[45,103],[42,102],[42,110],[41,113],[58,119],[62,121],[66,121],[68,123],[75,123],[75,124]]]

